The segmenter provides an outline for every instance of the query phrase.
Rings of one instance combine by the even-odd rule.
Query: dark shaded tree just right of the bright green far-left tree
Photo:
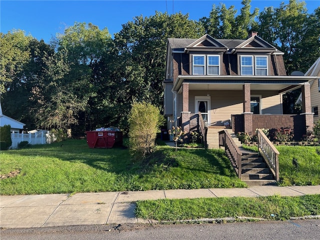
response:
[[[46,58],[54,49],[43,40],[30,39],[28,45],[29,59],[23,64],[19,73],[12,78],[7,91],[2,93],[3,109],[9,116],[26,123],[28,129],[39,127],[37,119],[37,100],[35,93],[42,94],[46,87]]]

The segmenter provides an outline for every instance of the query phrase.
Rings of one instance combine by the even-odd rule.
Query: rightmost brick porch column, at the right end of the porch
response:
[[[302,93],[302,113],[305,116],[305,131],[313,128],[313,112],[311,112],[310,83],[301,86]]]

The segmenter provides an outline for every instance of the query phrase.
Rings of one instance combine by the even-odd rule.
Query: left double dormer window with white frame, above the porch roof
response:
[[[192,55],[193,75],[219,75],[219,55]]]

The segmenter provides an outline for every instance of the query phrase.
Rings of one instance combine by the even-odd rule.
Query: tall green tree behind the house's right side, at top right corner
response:
[[[304,1],[289,0],[258,16],[259,36],[285,53],[287,74],[306,71],[320,54],[318,9],[308,14]]]

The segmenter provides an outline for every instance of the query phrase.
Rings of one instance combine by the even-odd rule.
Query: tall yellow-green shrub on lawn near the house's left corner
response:
[[[143,157],[152,152],[156,132],[163,123],[160,110],[146,102],[134,102],[128,115],[129,150],[135,157]]]

